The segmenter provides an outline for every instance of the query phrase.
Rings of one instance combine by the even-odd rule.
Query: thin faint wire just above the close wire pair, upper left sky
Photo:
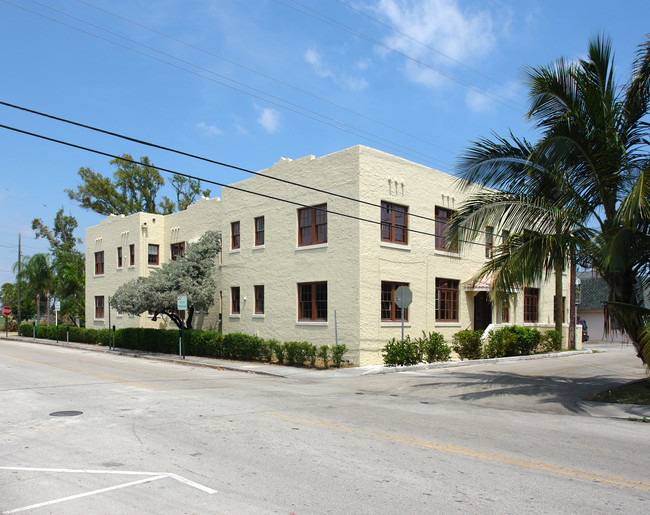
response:
[[[30,0],[30,1],[34,2],[35,0]],[[354,115],[356,115],[356,116],[359,116],[359,117],[361,117],[361,118],[365,118],[365,119],[368,120],[368,121],[371,121],[371,122],[376,123],[376,124],[378,124],[378,125],[382,125],[382,126],[388,128],[388,129],[391,129],[391,130],[393,130],[393,131],[395,131],[395,132],[399,132],[400,134],[403,134],[403,135],[408,136],[408,137],[410,137],[410,138],[417,139],[417,140],[419,140],[419,141],[421,141],[421,142],[423,142],[423,143],[426,143],[427,145],[431,145],[432,147],[438,148],[438,149],[443,150],[443,151],[445,151],[445,152],[451,152],[451,151],[450,151],[448,148],[446,148],[446,147],[443,147],[443,146],[441,146],[441,145],[437,145],[437,144],[435,144],[435,143],[433,143],[433,142],[431,142],[431,141],[429,141],[429,140],[426,140],[426,139],[424,139],[424,138],[422,138],[422,137],[420,137],[420,136],[417,136],[417,135],[415,135],[415,134],[411,134],[410,132],[406,132],[406,131],[404,131],[404,130],[402,130],[402,129],[399,129],[399,128],[397,128],[397,127],[394,127],[394,126],[392,126],[392,125],[390,125],[390,124],[388,124],[388,123],[382,122],[381,120],[378,120],[378,119],[373,118],[373,117],[371,117],[371,116],[368,116],[368,115],[365,115],[365,114],[363,114],[363,113],[360,113],[359,111],[355,111],[354,109],[350,109],[349,107],[346,107],[346,106],[344,106],[344,105],[337,104],[336,102],[332,102],[331,100],[328,100],[328,99],[325,98],[325,97],[321,97],[321,96],[316,95],[316,94],[314,94],[314,93],[311,93],[311,92],[309,92],[309,91],[307,91],[307,90],[304,90],[304,89],[302,89],[302,88],[299,88],[299,87],[297,87],[297,86],[294,86],[293,84],[290,84],[290,83],[288,83],[288,82],[285,82],[285,81],[282,81],[282,80],[280,80],[280,79],[277,79],[277,78],[275,78],[275,77],[273,77],[273,76],[271,76],[271,75],[268,75],[268,74],[262,73],[262,72],[260,72],[260,71],[258,71],[258,70],[255,70],[254,68],[250,68],[249,66],[245,66],[245,65],[243,65],[243,64],[241,64],[241,63],[238,63],[237,61],[233,61],[233,60],[228,59],[228,58],[226,58],[226,57],[223,57],[223,56],[220,56],[220,55],[218,55],[218,54],[215,54],[214,52],[211,52],[210,50],[206,50],[206,49],[201,48],[201,47],[199,47],[199,46],[197,46],[197,45],[193,45],[192,43],[188,43],[188,42],[186,42],[186,41],[183,41],[182,39],[175,38],[175,37],[173,37],[173,36],[170,36],[169,34],[166,34],[166,33],[164,33],[164,32],[161,32],[161,31],[159,31],[159,30],[156,30],[156,29],[154,29],[154,28],[152,28],[152,27],[149,27],[149,26],[144,25],[144,24],[142,24],[142,23],[139,23],[139,22],[137,22],[137,21],[131,20],[130,18],[127,18],[127,17],[122,16],[122,15],[120,15],[120,14],[117,14],[117,13],[114,13],[114,12],[109,11],[109,10],[107,10],[107,9],[104,9],[103,7],[99,7],[99,6],[94,5],[94,4],[90,3],[90,2],[86,2],[85,0],[77,0],[77,1],[78,1],[79,3],[82,3],[82,4],[85,4],[85,5],[89,6],[89,7],[92,7],[92,8],[94,8],[94,9],[97,9],[98,11],[102,11],[102,12],[104,12],[104,13],[106,13],[106,14],[109,14],[109,15],[111,15],[111,16],[114,16],[114,17],[116,17],[116,18],[118,18],[118,19],[120,19],[120,20],[124,20],[124,21],[126,21],[126,22],[128,22],[128,23],[131,23],[131,24],[137,26],[137,27],[141,27],[141,28],[146,29],[146,30],[148,30],[148,31],[150,31],[150,32],[153,32],[154,34],[157,34],[157,35],[162,36],[162,37],[164,37],[164,38],[167,38],[167,39],[169,39],[169,40],[171,40],[171,41],[174,41],[174,42],[176,42],[176,43],[179,43],[179,44],[181,44],[181,45],[184,45],[184,46],[186,46],[186,47],[188,47],[188,48],[192,48],[192,49],[194,49],[194,50],[198,50],[199,52],[202,52],[202,53],[204,53],[204,54],[206,54],[206,55],[209,55],[209,56],[211,56],[211,57],[215,57],[216,59],[219,59],[219,60],[221,60],[221,61],[224,61],[224,62],[226,62],[226,63],[228,63],[228,64],[232,64],[233,66],[237,66],[238,68],[241,68],[242,70],[246,70],[246,71],[248,71],[248,72],[254,73],[255,75],[258,75],[258,76],[260,76],[260,77],[263,77],[263,78],[265,78],[265,79],[268,79],[268,80],[270,80],[270,81],[273,81],[273,82],[275,82],[275,83],[277,83],[277,84],[280,84],[280,85],[282,85],[282,86],[285,86],[285,87],[287,87],[287,88],[293,89],[294,91],[298,91],[299,93],[302,93],[302,94],[304,94],[304,95],[308,95],[308,96],[310,96],[310,97],[312,97],[312,98],[315,98],[315,99],[317,99],[317,100],[320,100],[321,102],[325,102],[325,103],[327,103],[327,104],[329,104],[329,105],[331,105],[331,106],[333,106],[333,107],[336,107],[337,109],[341,109],[341,110],[343,110],[343,111],[347,111],[348,113],[352,113],[352,114],[354,114]],[[37,2],[37,3],[38,3],[38,2]],[[480,72],[479,72],[479,73],[480,73]],[[441,162],[444,163],[444,161],[441,161]],[[446,164],[446,163],[445,163],[445,164]]]

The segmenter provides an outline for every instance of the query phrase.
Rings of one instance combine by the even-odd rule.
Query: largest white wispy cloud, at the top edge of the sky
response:
[[[386,46],[436,68],[455,67],[454,60],[476,61],[496,43],[492,15],[474,7],[463,9],[457,0],[379,0],[375,10],[412,38],[391,32],[384,40]],[[440,73],[413,61],[407,63],[406,73],[411,80],[431,86],[443,80]]]

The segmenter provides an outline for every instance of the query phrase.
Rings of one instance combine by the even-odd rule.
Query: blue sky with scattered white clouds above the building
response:
[[[491,132],[534,139],[523,69],[609,36],[619,80],[650,2],[605,0],[0,0],[0,100],[252,170],[356,144],[453,173]],[[0,106],[2,124],[224,183],[248,177]],[[33,218],[109,158],[0,128],[0,284],[47,250]],[[167,192],[168,193],[168,192]],[[220,191],[212,187],[212,196]]]

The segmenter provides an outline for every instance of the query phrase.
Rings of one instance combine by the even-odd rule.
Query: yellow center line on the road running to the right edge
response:
[[[379,438],[382,440],[391,440],[398,443],[404,443],[407,445],[414,445],[417,447],[424,447],[427,449],[434,449],[438,451],[449,452],[453,454],[460,454],[463,456],[469,456],[471,458],[477,458],[482,460],[495,461],[499,463],[506,463],[509,465],[514,465],[517,467],[524,467],[534,470],[543,470],[546,472],[551,472],[553,474],[560,474],[563,476],[572,476],[581,479],[589,479],[592,481],[598,481],[600,483],[608,483],[612,485],[624,486],[626,488],[634,488],[636,490],[650,491],[650,483],[643,481],[636,481],[633,479],[624,479],[621,477],[610,476],[607,474],[599,474],[597,472],[588,472],[585,470],[574,469],[571,467],[565,467],[562,465],[552,465],[549,463],[543,463],[539,461],[526,460],[521,458],[515,458],[512,456],[505,456],[502,454],[494,454],[490,452],[478,451],[475,449],[466,449],[464,447],[458,447],[454,445],[447,445],[437,442],[428,442],[426,440],[418,440],[416,438],[410,438],[401,435],[394,434],[377,434],[372,432],[363,431],[359,428],[349,428],[343,424],[335,424],[331,422],[326,422],[323,420],[308,420],[300,419],[295,417],[289,417],[287,415],[280,415],[278,413],[267,413],[273,417],[282,418],[285,420],[291,420],[293,422],[299,422],[303,424],[310,424],[314,426],[320,426],[328,429],[336,429],[338,431],[345,431],[347,433],[355,433],[361,436],[369,436],[372,438]]]

